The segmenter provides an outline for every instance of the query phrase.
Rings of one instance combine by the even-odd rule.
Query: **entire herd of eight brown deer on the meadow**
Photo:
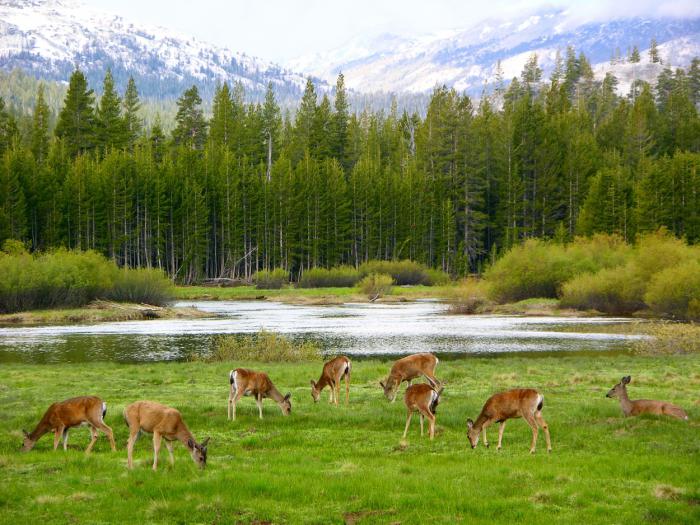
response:
[[[397,360],[391,367],[389,377],[385,381],[380,381],[380,385],[384,389],[384,395],[391,402],[396,400],[401,383],[408,383],[408,388],[404,395],[407,410],[404,438],[408,433],[411,418],[415,412],[418,412],[420,415],[421,436],[423,435],[424,419],[428,420],[430,439],[433,439],[435,436],[435,412],[444,390],[443,384],[435,377],[437,364],[438,358],[432,354],[409,355]],[[338,405],[340,384],[344,379],[345,403],[349,403],[351,369],[351,362],[345,356],[336,357],[325,363],[319,380],[311,381],[311,396],[314,401],[318,402],[321,391],[327,386],[330,389],[329,401]],[[420,377],[424,377],[428,382],[411,384],[414,379]],[[606,395],[606,397],[617,397],[620,400],[625,416],[656,414],[673,416],[684,420],[688,419],[687,414],[681,407],[671,403],[648,399],[630,400],[627,395],[627,385],[630,380],[630,376],[623,377]],[[264,372],[236,368],[229,373],[229,383],[229,419],[236,419],[236,404],[243,396],[255,397],[261,419],[263,416],[262,402],[265,398],[274,400],[284,415],[289,415],[292,411],[291,394],[283,396]],[[500,449],[506,420],[522,417],[532,429],[530,452],[535,452],[540,428],[544,431],[547,441],[547,452],[551,452],[552,444],[549,438],[549,427],[542,417],[543,404],[544,396],[531,388],[516,388],[494,394],[486,401],[476,421],[467,420],[467,438],[471,447],[476,447],[479,443],[479,436],[482,434],[484,445],[488,447],[486,428],[497,422],[499,424],[497,448]],[[63,438],[63,449],[67,450],[69,429],[87,425],[90,427],[92,439],[86,452],[89,453],[95,445],[98,430],[107,435],[114,451],[116,450],[116,445],[112,429],[104,422],[106,413],[107,404],[96,396],[75,397],[54,403],[48,408],[32,432],[23,431],[24,444],[22,450],[31,450],[37,440],[48,432],[54,433],[54,450],[58,448],[61,438]],[[163,438],[165,438],[171,464],[175,462],[173,441],[177,440],[189,450],[196,464],[200,467],[206,466],[209,438],[198,443],[182,420],[180,412],[176,409],[154,401],[136,401],[124,409],[124,420],[129,427],[129,440],[127,443],[129,468],[133,468],[132,455],[134,444],[141,432],[153,434],[153,470],[158,468],[158,453]]]

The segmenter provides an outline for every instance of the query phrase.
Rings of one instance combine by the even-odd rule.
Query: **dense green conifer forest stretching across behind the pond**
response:
[[[545,81],[533,57],[478,103],[445,87],[425,117],[351,113],[309,81],[294,118],[269,86],[223,84],[205,118],[196,87],[166,136],[138,88],[109,71],[96,100],[71,76],[56,125],[42,88],[27,133],[0,107],[0,243],[92,249],[180,282],[371,259],[480,271],[529,238],[665,227],[700,239],[700,60],[654,86],[594,78],[569,49]],[[0,102],[1,104],[1,102]]]

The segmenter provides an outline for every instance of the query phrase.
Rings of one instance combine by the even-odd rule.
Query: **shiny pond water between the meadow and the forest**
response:
[[[638,336],[595,327],[609,317],[449,315],[444,304],[297,306],[268,301],[187,301],[211,318],[0,328],[0,362],[169,361],[207,352],[216,334],[261,329],[312,339],[356,357],[434,352],[445,357],[510,352],[625,351]],[[577,331],[578,327],[581,328]]]

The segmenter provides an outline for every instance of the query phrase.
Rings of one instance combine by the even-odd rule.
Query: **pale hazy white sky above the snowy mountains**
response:
[[[567,8],[580,19],[700,16],[698,0],[83,0],[134,22],[159,25],[284,63],[356,36],[420,34],[468,27],[536,8]]]

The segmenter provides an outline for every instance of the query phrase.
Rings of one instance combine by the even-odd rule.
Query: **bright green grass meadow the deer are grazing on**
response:
[[[401,442],[401,398],[389,404],[377,384],[388,362],[355,361],[349,407],[314,405],[309,379],[320,364],[236,363],[264,369],[293,409],[283,417],[265,401],[265,419],[244,398],[226,420],[230,363],[2,365],[0,369],[0,521],[5,523],[691,523],[700,520],[700,356],[595,354],[442,360],[446,381],[438,434],[420,438],[414,418]],[[631,374],[632,398],[676,402],[690,421],[625,419],[605,393]],[[554,451],[529,428],[506,425],[504,449],[471,450],[465,420],[494,391],[539,388]],[[403,390],[403,389],[402,389]],[[48,404],[96,394],[118,452],[101,437],[83,453],[86,429],[67,453],[45,436],[18,452],[21,428]],[[211,436],[198,470],[181,445],[170,468],[150,469],[149,436],[126,469],[123,407],[154,399],[179,408],[198,439]],[[489,432],[496,441],[496,428]],[[163,447],[165,448],[165,447]],[[258,520],[258,521],[256,521]]]

